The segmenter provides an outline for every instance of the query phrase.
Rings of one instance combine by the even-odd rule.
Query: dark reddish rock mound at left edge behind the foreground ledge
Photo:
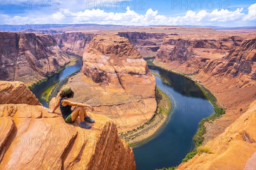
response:
[[[0,81],[0,104],[41,105],[23,82]]]

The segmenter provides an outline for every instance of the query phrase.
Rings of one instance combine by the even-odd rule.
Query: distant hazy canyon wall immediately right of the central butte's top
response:
[[[148,32],[119,32],[120,37],[128,38],[142,57],[155,57],[167,34]]]

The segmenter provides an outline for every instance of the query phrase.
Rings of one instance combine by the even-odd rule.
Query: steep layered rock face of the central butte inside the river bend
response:
[[[94,82],[128,95],[154,97],[156,81],[145,60],[128,39],[95,37],[84,52],[82,72]]]

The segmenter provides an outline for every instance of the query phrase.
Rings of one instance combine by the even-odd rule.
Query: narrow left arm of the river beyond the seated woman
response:
[[[51,87],[52,85],[55,85],[57,82],[60,82],[70,74],[81,69],[81,63],[82,63],[82,58],[78,57],[78,60],[76,61],[75,65],[70,65],[64,68],[63,71],[61,71],[58,74],[54,74],[52,77],[49,77],[47,81],[43,82],[40,85],[35,86],[35,88],[31,90],[32,93],[35,94],[36,98],[38,98],[39,102],[42,103],[44,107],[46,108],[49,107],[47,102],[44,100],[44,98],[42,98],[42,94],[44,93],[44,91],[46,91],[47,88]]]

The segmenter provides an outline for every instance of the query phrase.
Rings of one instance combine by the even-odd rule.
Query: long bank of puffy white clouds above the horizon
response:
[[[183,16],[166,17],[159,15],[158,11],[149,8],[145,14],[137,14],[129,7],[125,12],[106,12],[101,9],[86,9],[72,12],[70,9],[60,9],[54,14],[29,15],[29,17],[10,17],[1,14],[1,24],[45,24],[45,23],[96,23],[114,25],[220,25],[230,22],[239,23],[247,20],[256,20],[256,3],[248,8],[248,14],[244,14],[243,8],[236,11],[227,9],[215,9],[211,12],[201,10],[198,12],[187,11]],[[228,25],[229,26],[229,25]]]

